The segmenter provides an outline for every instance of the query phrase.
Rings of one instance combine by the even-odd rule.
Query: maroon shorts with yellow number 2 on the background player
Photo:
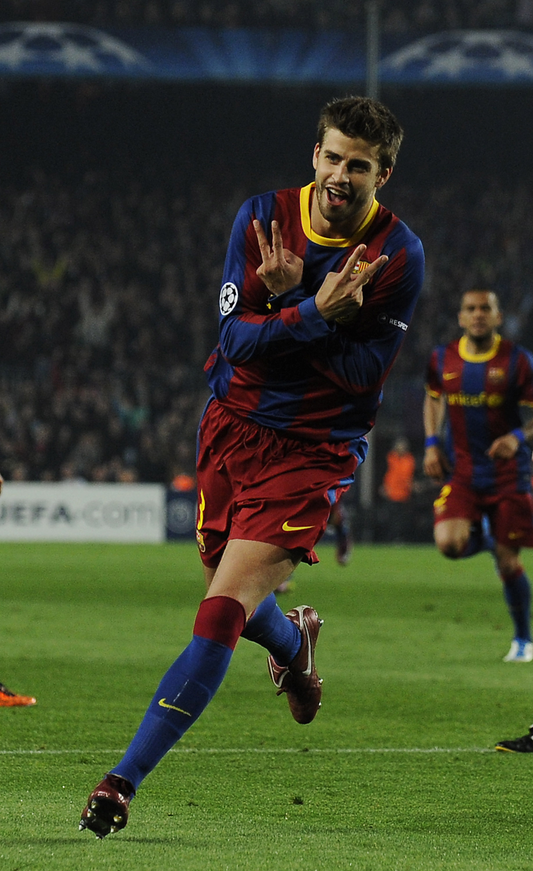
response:
[[[497,542],[513,550],[533,547],[533,500],[530,493],[504,490],[489,496],[452,478],[442,487],[433,510],[435,523],[455,517],[478,523],[486,514]]]

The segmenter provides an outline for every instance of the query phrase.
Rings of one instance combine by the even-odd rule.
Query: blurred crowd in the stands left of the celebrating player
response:
[[[3,190],[4,476],[168,482],[194,468],[236,205],[98,172],[35,170]]]

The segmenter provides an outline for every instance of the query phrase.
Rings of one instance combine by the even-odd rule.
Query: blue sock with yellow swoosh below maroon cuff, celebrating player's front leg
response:
[[[193,635],[161,680],[132,743],[111,773],[125,777],[137,790],[213,699],[232,654],[218,641]]]

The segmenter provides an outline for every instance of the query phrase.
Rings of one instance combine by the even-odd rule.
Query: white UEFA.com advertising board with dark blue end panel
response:
[[[196,497],[162,484],[3,484],[0,541],[164,542],[194,537]]]

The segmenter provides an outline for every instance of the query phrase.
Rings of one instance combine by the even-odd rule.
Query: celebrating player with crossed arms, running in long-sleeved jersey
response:
[[[320,115],[314,183],[253,197],[237,215],[199,428],[207,595],[125,757],[89,796],[80,828],[98,837],[125,826],[138,785],[213,698],[240,635],[266,647],[294,719],[320,707],[318,615],[300,605],[285,616],[273,591],[317,561],[422,286],[420,241],[374,199],[401,138],[385,106],[334,100]]]

